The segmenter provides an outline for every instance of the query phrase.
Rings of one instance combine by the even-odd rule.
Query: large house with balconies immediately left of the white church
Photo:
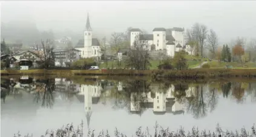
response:
[[[54,65],[67,67],[72,62],[80,59],[80,51],[78,49],[56,49],[54,52]]]

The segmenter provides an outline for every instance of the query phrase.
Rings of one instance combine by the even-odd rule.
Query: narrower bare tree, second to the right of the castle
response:
[[[208,42],[208,49],[212,53],[213,57],[215,58],[215,53],[218,46],[218,37],[214,30],[210,30],[209,34],[207,35],[207,42]]]

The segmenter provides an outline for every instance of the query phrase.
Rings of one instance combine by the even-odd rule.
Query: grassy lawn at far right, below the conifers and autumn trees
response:
[[[243,65],[247,65],[248,69],[249,68],[256,68],[256,63],[252,62],[246,62],[246,63],[237,63],[237,62],[217,62],[217,61],[212,61],[208,62],[208,64],[211,66],[211,68],[225,68],[226,65],[233,66],[235,69],[246,69],[243,68]]]

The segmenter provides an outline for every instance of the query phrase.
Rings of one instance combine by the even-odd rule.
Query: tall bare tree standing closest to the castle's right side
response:
[[[197,43],[199,43],[199,49],[201,56],[203,56],[203,49],[205,48],[205,40],[207,37],[207,27],[206,25],[195,23],[192,27],[192,34],[195,36]]]

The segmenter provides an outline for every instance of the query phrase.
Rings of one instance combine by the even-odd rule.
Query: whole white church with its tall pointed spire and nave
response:
[[[100,59],[100,43],[97,38],[93,38],[93,30],[91,29],[90,25],[89,14],[87,15],[87,23],[84,30],[84,39],[80,39],[74,48],[80,51],[81,58],[95,57],[97,59]]]

